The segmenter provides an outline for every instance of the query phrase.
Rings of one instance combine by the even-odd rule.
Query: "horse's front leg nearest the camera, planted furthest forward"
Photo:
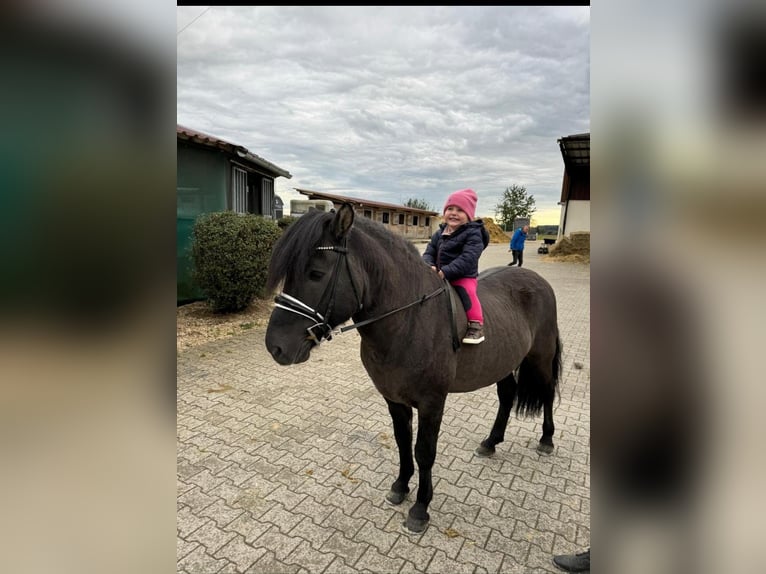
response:
[[[423,532],[428,526],[428,505],[433,498],[431,470],[436,460],[436,442],[444,414],[444,398],[438,404],[418,407],[418,438],[415,442],[415,460],[418,462],[418,496],[407,516],[407,528]]]

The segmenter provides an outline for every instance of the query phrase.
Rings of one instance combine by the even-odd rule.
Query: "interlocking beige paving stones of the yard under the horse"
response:
[[[513,415],[496,455],[475,456],[495,387],[449,395],[430,526],[411,534],[415,488],[385,502],[398,455],[356,331],[289,367],[264,329],[214,341],[177,357],[178,572],[558,572],[553,554],[588,547],[590,267],[545,261],[538,245],[524,266],[553,285],[564,345],[553,454],[535,450],[542,416]],[[509,260],[493,244],[481,267]]]

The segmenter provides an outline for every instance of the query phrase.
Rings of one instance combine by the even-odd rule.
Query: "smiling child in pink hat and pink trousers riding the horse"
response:
[[[461,189],[444,204],[444,223],[431,237],[423,260],[439,277],[447,279],[463,301],[468,331],[463,343],[478,345],[484,340],[484,315],[476,296],[479,257],[489,243],[489,233],[476,213],[476,192]]]

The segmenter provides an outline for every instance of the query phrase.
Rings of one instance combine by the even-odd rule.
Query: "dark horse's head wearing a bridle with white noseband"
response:
[[[310,211],[285,229],[271,256],[267,289],[283,282],[266,330],[266,348],[282,365],[302,363],[311,349],[361,308],[347,239],[354,210]]]

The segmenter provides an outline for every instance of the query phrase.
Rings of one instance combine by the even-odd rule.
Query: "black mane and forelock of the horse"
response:
[[[291,269],[306,269],[315,249],[326,241],[323,238],[334,217],[332,212],[311,210],[287,226],[272,250],[268,292],[275,290]],[[407,263],[413,260],[422,264],[420,252],[410,241],[366,217],[354,218],[348,245],[364,254],[362,264],[368,273],[377,276],[375,280],[382,280],[384,270],[391,270],[392,259],[399,261],[395,271],[407,269]]]

